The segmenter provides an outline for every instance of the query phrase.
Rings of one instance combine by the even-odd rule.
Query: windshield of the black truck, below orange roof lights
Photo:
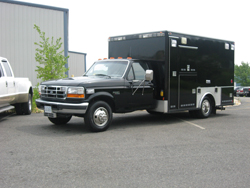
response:
[[[128,61],[98,61],[84,76],[122,77],[127,66]]]

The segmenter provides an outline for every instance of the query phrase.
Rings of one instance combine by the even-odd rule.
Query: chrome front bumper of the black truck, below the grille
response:
[[[51,106],[53,113],[62,114],[85,114],[87,111],[89,103],[62,103],[62,102],[52,102],[44,101],[42,99],[36,99],[36,106],[44,110],[44,106]]]

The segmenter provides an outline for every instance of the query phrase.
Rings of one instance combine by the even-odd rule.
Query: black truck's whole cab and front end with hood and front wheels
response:
[[[136,59],[96,61],[82,76],[40,85],[37,107],[55,124],[67,123],[72,115],[85,118],[93,131],[106,130],[112,113],[155,107],[153,71]]]

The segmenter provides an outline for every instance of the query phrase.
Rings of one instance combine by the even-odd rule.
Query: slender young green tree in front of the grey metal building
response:
[[[42,81],[53,80],[59,78],[66,78],[65,72],[68,70],[65,68],[67,59],[69,56],[65,57],[63,55],[64,50],[61,50],[62,42],[61,38],[57,39],[54,43],[54,38],[45,37],[45,32],[40,30],[36,24],[34,24],[34,29],[39,33],[41,41],[39,43],[35,42],[38,46],[36,49],[35,60],[40,64],[37,66],[37,78]]]

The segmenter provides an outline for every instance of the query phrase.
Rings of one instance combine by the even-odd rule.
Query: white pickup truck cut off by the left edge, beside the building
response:
[[[18,115],[31,114],[32,84],[28,78],[15,78],[8,60],[0,57],[0,113],[16,109]]]

